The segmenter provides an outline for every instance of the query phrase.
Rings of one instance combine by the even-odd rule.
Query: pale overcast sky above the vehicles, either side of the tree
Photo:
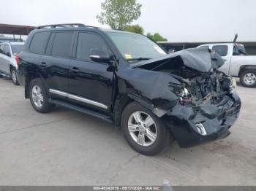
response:
[[[102,26],[96,15],[104,0],[0,0],[0,23],[40,26],[84,23]],[[256,41],[255,0],[138,0],[133,24],[159,32],[169,42]]]

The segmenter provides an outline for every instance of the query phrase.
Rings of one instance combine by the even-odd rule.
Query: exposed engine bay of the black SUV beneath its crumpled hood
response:
[[[181,82],[169,84],[170,90],[180,98],[181,104],[196,106],[199,104],[218,104],[223,95],[233,93],[236,81],[217,69],[201,72],[184,65],[181,57],[140,66],[142,69],[169,73]]]

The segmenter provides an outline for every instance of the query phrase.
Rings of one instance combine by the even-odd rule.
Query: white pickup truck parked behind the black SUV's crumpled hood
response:
[[[219,68],[220,71],[239,77],[244,87],[256,86],[256,56],[247,55],[243,44],[234,40],[233,43],[202,44],[198,47],[208,47],[222,56],[225,64]]]

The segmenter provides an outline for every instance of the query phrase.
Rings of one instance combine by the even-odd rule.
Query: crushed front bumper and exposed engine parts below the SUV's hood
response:
[[[170,87],[179,104],[163,117],[178,144],[191,147],[228,136],[241,108],[234,79],[216,71],[181,81],[181,87]]]

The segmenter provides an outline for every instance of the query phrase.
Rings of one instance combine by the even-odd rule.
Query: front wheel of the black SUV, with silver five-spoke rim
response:
[[[140,120],[135,120],[135,118],[138,118],[135,116],[140,116]],[[151,117],[151,120],[146,120],[148,116]],[[152,120],[154,122],[153,125],[144,125],[151,124]],[[139,125],[138,121],[141,121],[141,125]],[[164,122],[137,102],[132,102],[124,109],[121,117],[121,128],[132,149],[143,155],[156,155],[161,152],[170,138],[170,130],[167,129]],[[143,130],[145,130],[144,133]],[[154,136],[152,136],[152,133]],[[151,137],[151,139],[148,139],[148,137]]]

